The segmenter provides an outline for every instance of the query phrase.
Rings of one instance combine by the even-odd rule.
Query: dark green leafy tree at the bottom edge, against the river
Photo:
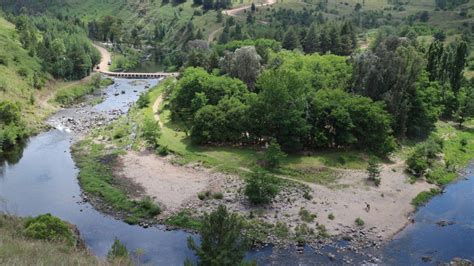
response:
[[[242,262],[248,249],[248,241],[242,234],[242,220],[219,205],[211,214],[204,214],[200,228],[201,245],[192,237],[188,246],[199,258],[198,265],[231,266]]]

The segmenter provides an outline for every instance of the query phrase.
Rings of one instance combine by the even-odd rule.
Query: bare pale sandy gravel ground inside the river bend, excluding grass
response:
[[[248,215],[259,213],[269,223],[284,221],[290,228],[301,224],[299,211],[302,207],[317,215],[310,227],[323,224],[332,235],[351,232],[357,228],[355,219],[365,222],[363,228],[370,239],[387,240],[409,223],[414,211],[411,200],[432,185],[426,182],[410,184],[401,162],[384,165],[382,184],[375,187],[367,183],[362,170],[340,170],[336,184],[326,187],[305,183],[312,192],[312,199],[302,197],[295,188],[284,189],[275,201],[265,208],[251,206],[241,193],[244,183],[239,177],[215,173],[199,166],[174,165],[170,158],[147,152],[129,152],[120,157],[116,174],[128,178],[144,188],[145,194],[154,198],[165,209],[161,218],[180,209],[192,209],[196,213],[208,212],[219,204]],[[220,191],[222,200],[198,199],[198,192]],[[367,205],[370,205],[368,209]],[[334,215],[334,220],[328,218]]]

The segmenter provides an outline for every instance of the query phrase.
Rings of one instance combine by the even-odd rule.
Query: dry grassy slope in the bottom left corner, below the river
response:
[[[2,265],[130,265],[101,261],[85,249],[61,242],[35,240],[21,232],[25,220],[0,214],[0,264]]]

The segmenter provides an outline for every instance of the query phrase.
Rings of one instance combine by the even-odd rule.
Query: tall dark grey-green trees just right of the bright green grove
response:
[[[429,82],[423,54],[398,37],[387,38],[354,59],[352,90],[384,101],[396,136],[423,137],[440,114],[439,84]]]

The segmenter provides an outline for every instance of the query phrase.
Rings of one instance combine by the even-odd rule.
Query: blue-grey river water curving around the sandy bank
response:
[[[115,81],[115,85],[105,90],[105,100],[93,107],[94,111],[127,111],[146,87],[158,82]],[[53,118],[64,116],[68,112],[71,113],[71,110],[60,111]],[[195,259],[186,243],[191,234],[185,231],[166,231],[160,227],[144,229],[128,225],[98,212],[89,203],[81,203],[78,169],[70,153],[73,136],[54,119],[51,124],[56,129],[30,138],[23,150],[18,149],[11,158],[0,164],[0,211],[20,216],[51,213],[67,220],[77,225],[88,248],[98,256],[106,256],[114,239],[118,238],[129,251],[143,251],[142,263],[183,265],[186,258]],[[473,165],[467,168],[468,180],[448,186],[444,194],[434,198],[417,212],[417,222],[414,225],[407,227],[381,250],[379,255],[383,263],[422,264],[423,256],[431,258],[429,263],[449,261],[453,257],[474,260],[472,169]],[[436,224],[440,220],[454,224],[440,227]],[[342,263],[339,259],[342,255],[337,254],[336,250],[331,252],[338,256],[335,263]],[[262,265],[330,263],[326,256],[318,255],[310,248],[297,255],[293,250],[275,251],[267,247],[249,252],[248,257],[256,259]]]

